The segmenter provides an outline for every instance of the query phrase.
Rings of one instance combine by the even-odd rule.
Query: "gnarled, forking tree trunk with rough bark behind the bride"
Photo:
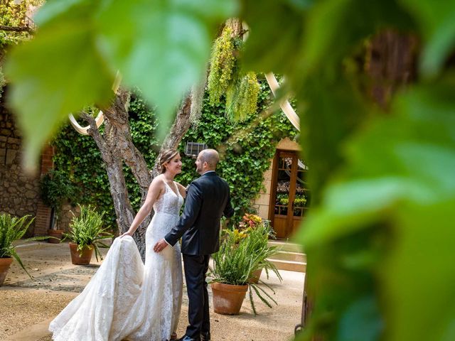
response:
[[[90,124],[88,134],[95,139],[100,149],[102,160],[105,163],[107,176],[109,178],[110,192],[114,201],[114,210],[117,215],[117,227],[119,233],[127,232],[131,226],[135,212],[128,197],[127,185],[124,179],[123,162],[131,168],[141,189],[141,205],[144,204],[151,180],[158,175],[158,161],[156,159],[153,172],[149,171],[144,156],[134,146],[131,136],[131,129],[128,120],[129,92],[119,89],[114,98],[112,106],[105,109],[105,132],[100,134],[97,130],[95,119],[88,114],[82,114]],[[191,126],[191,95],[183,99],[181,108],[178,110],[176,120],[171,131],[161,146],[161,151],[166,148],[177,148],[183,135]],[[161,154],[161,152],[160,152]],[[152,175],[153,173],[153,175]],[[139,225],[134,234],[134,240],[141,254],[145,259],[145,232],[153,217],[153,212],[146,217]]]

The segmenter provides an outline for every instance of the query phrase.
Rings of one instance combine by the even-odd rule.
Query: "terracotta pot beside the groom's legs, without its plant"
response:
[[[248,285],[212,283],[213,310],[223,315],[239,315]]]

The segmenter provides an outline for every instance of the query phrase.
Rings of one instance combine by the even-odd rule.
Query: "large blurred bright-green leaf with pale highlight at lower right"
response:
[[[326,270],[328,274],[333,271],[331,276],[341,276],[338,283],[321,271],[316,275],[323,291],[318,296],[323,303],[317,309],[324,311],[321,304],[333,305],[328,310],[338,311],[341,323],[349,326],[340,325],[338,336],[344,336],[339,340],[369,340],[363,338],[368,337],[365,330],[363,337],[355,337],[362,327],[360,320],[349,317],[355,311],[341,313],[348,312],[360,296],[346,302],[334,296],[335,290],[347,295],[344,281],[368,290],[361,286],[368,271],[358,272],[363,264],[371,269],[370,276],[380,276],[370,290],[382,298],[387,340],[454,337],[455,309],[445,303],[455,295],[451,266],[455,177],[449,171],[455,168],[453,85],[454,79],[448,78],[408,90],[397,97],[388,117],[370,122],[349,141],[347,165],[329,184],[321,205],[311,212],[301,231],[302,243],[309,254],[316,254],[318,264],[325,258],[317,259],[317,250],[326,248],[335,251],[319,251],[324,257],[343,260]],[[382,258],[368,254],[373,244],[357,252],[348,242],[362,233],[373,236],[373,231],[387,232],[387,251],[382,251]],[[348,254],[343,254],[342,245],[348,246]],[[357,272],[343,278],[343,271]]]

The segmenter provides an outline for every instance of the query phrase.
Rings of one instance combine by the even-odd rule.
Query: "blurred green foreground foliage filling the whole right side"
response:
[[[454,337],[448,321],[455,311],[443,302],[454,295],[455,276],[455,216],[448,211],[455,200],[448,171],[455,6],[443,2],[245,1],[245,63],[287,77],[310,165],[313,207],[300,240],[311,259],[306,281],[314,310],[299,340]],[[286,16],[289,25],[277,30]],[[384,28],[425,42],[420,84],[398,92],[387,115],[359,91],[365,74],[346,67]],[[278,42],[270,46],[269,39]],[[419,280],[428,269],[431,280]]]

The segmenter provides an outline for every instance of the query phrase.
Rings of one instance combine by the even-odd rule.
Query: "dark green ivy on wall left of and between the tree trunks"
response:
[[[137,93],[132,94],[129,103],[129,124],[134,146],[139,149],[151,168],[159,151],[154,134],[157,121],[154,112]],[[72,126],[67,125],[55,137],[53,146],[55,146],[53,158],[55,169],[63,172],[65,177],[80,188],[80,191],[75,193],[73,202],[95,205],[106,212],[104,219],[107,224],[115,226],[116,217],[109,191],[109,179],[102,164],[100,151],[92,137],[80,135]],[[139,187],[127,166],[124,166],[124,175],[129,200],[137,211],[141,201]]]

